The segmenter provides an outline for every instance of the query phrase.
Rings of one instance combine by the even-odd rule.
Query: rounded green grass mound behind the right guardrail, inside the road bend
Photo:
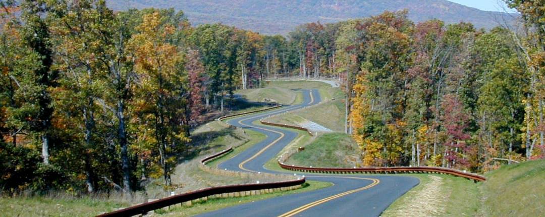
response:
[[[293,154],[286,164],[313,167],[353,167],[358,166],[359,147],[352,137],[341,132],[319,135],[305,150]]]

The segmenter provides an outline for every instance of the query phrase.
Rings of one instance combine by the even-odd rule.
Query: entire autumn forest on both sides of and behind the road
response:
[[[361,166],[543,158],[545,3],[507,2],[517,27],[413,23],[405,10],[263,35],[174,9],[1,1],[0,190],[171,186],[193,127],[237,89],[293,76],[342,83]]]

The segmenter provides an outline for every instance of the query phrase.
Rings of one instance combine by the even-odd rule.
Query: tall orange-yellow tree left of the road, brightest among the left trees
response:
[[[179,107],[184,107],[183,82],[181,71],[177,65],[181,61],[177,47],[169,44],[175,28],[161,23],[158,12],[146,14],[143,22],[137,27],[140,33],[130,41],[135,49],[136,69],[140,77],[136,102],[137,111],[141,112],[142,125],[153,129],[155,143],[159,152],[159,163],[162,169],[165,185],[172,185],[171,174],[176,159],[173,153],[189,142],[189,137],[182,125],[185,118]]]

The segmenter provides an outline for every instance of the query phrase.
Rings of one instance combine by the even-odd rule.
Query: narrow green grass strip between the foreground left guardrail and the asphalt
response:
[[[174,215],[174,216],[193,216],[193,215],[198,215],[201,213],[212,212],[214,210],[223,209],[226,207],[236,206],[239,204],[251,203],[258,200],[265,200],[267,198],[280,197],[280,196],[284,196],[288,194],[299,194],[306,191],[313,191],[313,190],[318,190],[322,188],[327,188],[331,185],[332,184],[328,182],[316,182],[312,180],[307,180],[302,188],[292,190],[292,191],[280,191],[280,192],[274,192],[270,194],[252,195],[252,196],[246,196],[246,197],[213,198],[213,199],[209,199],[206,202],[193,203],[192,206],[190,207],[187,207],[187,206],[180,207],[178,205],[178,206],[172,207],[170,210],[168,210],[168,212],[158,211],[156,213]]]

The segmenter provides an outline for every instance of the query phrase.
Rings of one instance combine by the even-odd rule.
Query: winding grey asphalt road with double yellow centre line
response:
[[[297,134],[274,126],[255,125],[252,122],[272,114],[320,102],[316,89],[303,90],[303,95],[304,102],[299,105],[283,106],[277,110],[229,119],[229,124],[261,132],[267,135],[267,138],[222,162],[219,167],[234,171],[281,173],[267,170],[263,165],[294,140]],[[417,178],[405,176],[299,174],[304,174],[307,180],[331,182],[334,185],[315,191],[245,203],[199,216],[379,216],[396,198],[419,183]]]

